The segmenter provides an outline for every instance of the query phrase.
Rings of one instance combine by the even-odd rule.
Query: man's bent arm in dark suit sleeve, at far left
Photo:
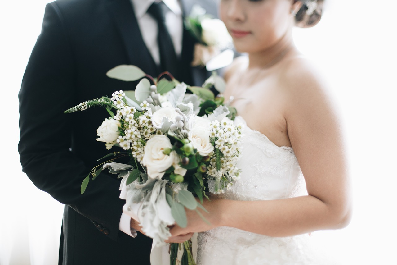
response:
[[[119,199],[119,181],[102,173],[81,195],[81,182],[92,167],[69,149],[75,116],[64,110],[76,105],[74,96],[79,91],[75,91],[75,58],[62,19],[55,3],[46,6],[42,32],[23,77],[20,160],[39,189],[107,228],[102,232],[116,240],[124,204]],[[97,156],[89,149],[86,155]]]

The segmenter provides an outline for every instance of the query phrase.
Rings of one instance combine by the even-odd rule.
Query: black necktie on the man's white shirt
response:
[[[168,71],[173,76],[177,75],[177,58],[173,47],[170,33],[166,26],[164,2],[154,2],[148,9],[148,13],[157,20],[158,23],[158,49],[160,51],[161,71]]]

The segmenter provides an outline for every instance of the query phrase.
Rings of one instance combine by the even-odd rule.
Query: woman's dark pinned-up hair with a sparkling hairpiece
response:
[[[306,14],[306,10],[308,10],[308,3],[312,2],[311,0],[294,0],[294,2],[301,1],[303,4],[301,9],[295,15],[295,25],[297,27],[313,27],[316,25],[320,19],[322,14],[323,2],[324,0],[317,0],[317,7],[312,12],[312,14]]]

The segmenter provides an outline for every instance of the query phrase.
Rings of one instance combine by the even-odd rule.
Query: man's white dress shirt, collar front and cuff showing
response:
[[[158,26],[156,19],[152,18],[147,13],[148,8],[155,2],[154,0],[131,0],[134,8],[135,17],[137,18],[139,29],[146,47],[153,57],[154,62],[160,65],[160,52],[157,43]],[[175,53],[177,57],[181,56],[182,51],[182,33],[183,33],[183,18],[181,5],[177,0],[163,0],[164,4],[169,8],[166,13],[166,25],[170,33]],[[125,234],[136,237],[137,233],[132,233],[130,230],[130,215],[121,214],[119,230]]]

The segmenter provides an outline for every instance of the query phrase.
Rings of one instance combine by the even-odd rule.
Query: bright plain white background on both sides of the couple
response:
[[[57,263],[63,206],[21,172],[17,153],[17,94],[46,2],[3,1],[0,8],[1,265]],[[299,49],[323,70],[339,105],[353,179],[354,215],[347,228],[316,232],[313,238],[342,264],[397,264],[397,4],[328,2],[322,21],[312,29],[295,29],[294,36]],[[37,106],[45,111],[53,100],[48,93]]]

